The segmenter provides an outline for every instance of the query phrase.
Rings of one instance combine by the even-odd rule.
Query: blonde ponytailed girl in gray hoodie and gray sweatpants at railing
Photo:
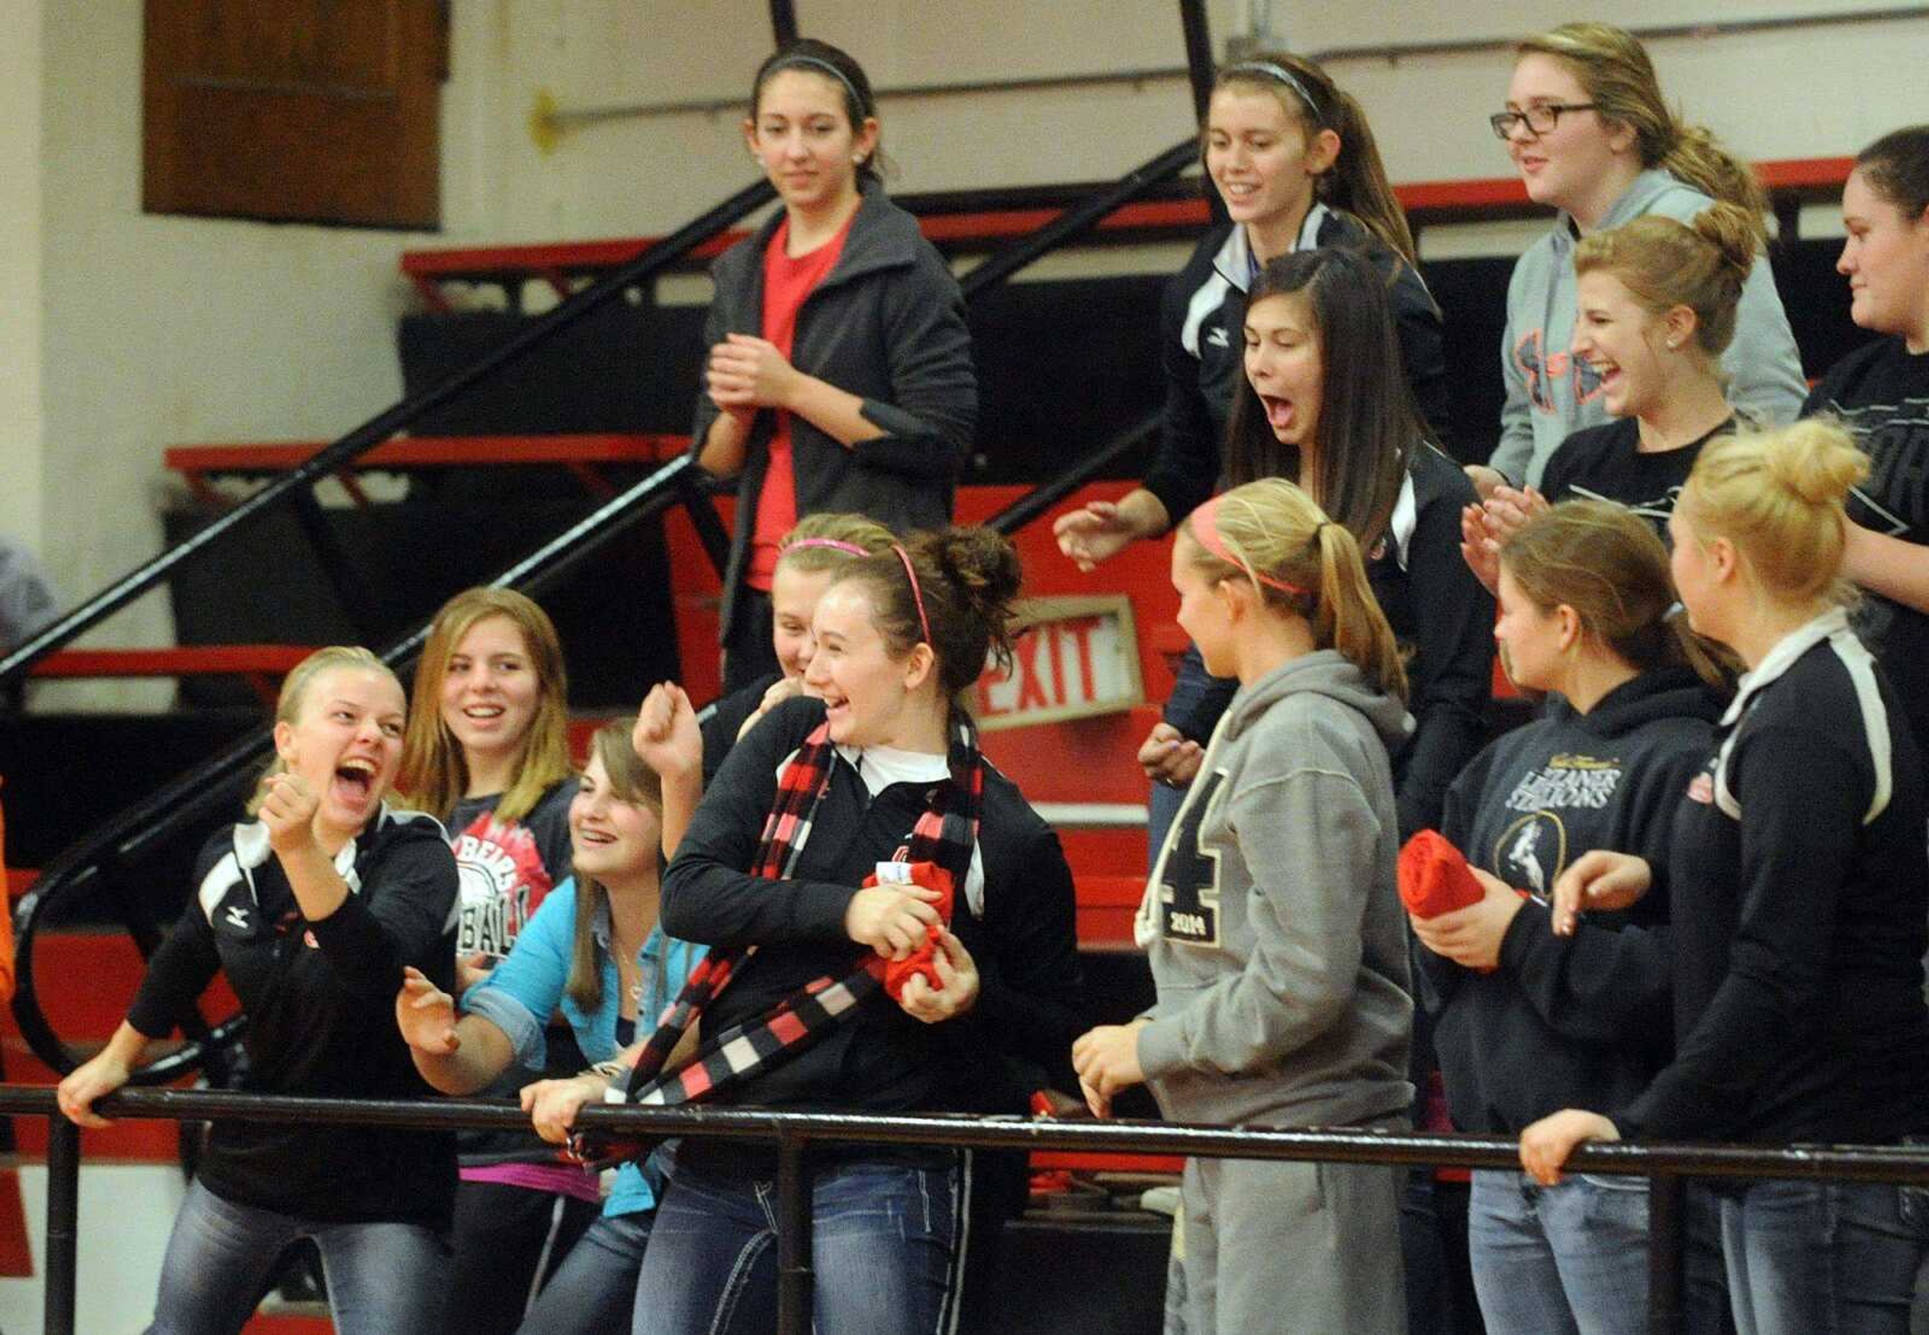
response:
[[[1136,936],[1157,1005],[1073,1046],[1092,1109],[1150,1082],[1173,1121],[1404,1127],[1412,999],[1389,749],[1406,673],[1360,548],[1265,478],[1192,511],[1179,623],[1238,679]],[[1404,1331],[1399,1169],[1188,1159],[1171,1279],[1188,1335]]]

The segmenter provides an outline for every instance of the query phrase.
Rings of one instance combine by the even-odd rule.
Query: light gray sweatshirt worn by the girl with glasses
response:
[[[1644,214],[1692,222],[1713,203],[1661,168],[1649,168],[1634,177],[1597,230],[1607,232]],[[1562,440],[1607,421],[1599,378],[1568,353],[1574,341],[1576,243],[1574,220],[1562,212],[1553,232],[1520,257],[1507,284],[1507,336],[1501,340],[1507,403],[1501,407],[1501,444],[1487,463],[1516,484],[1539,486],[1547,455]],[[1802,411],[1807,395],[1802,355],[1775,291],[1775,274],[1761,257],[1742,284],[1734,341],[1721,368],[1728,376],[1728,401],[1761,422],[1779,426]]]

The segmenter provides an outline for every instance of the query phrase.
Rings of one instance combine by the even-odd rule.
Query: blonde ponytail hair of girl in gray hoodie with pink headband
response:
[[[1211,532],[1202,536],[1200,525]],[[1285,478],[1246,482],[1194,509],[1184,532],[1188,559],[1208,581],[1248,581],[1263,606],[1304,617],[1318,648],[1339,650],[1377,691],[1406,696],[1400,646],[1366,581],[1360,544],[1312,496]]]

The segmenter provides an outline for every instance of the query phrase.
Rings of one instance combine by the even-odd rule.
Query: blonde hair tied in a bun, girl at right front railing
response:
[[[1726,538],[1765,594],[1782,602],[1850,602],[1842,579],[1848,488],[1869,459],[1838,422],[1811,417],[1775,430],[1742,430],[1701,446],[1682,486],[1701,542]]]

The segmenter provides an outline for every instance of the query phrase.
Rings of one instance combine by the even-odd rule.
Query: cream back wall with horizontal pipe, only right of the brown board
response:
[[[1169,0],[801,0],[804,31],[858,54],[878,87],[1022,75],[1092,73],[1182,64]],[[1441,6],[1213,0],[1215,41],[1265,19],[1296,50],[1383,42],[1512,39],[1601,6],[1466,0]],[[1748,17],[1852,14],[1856,0],[1748,6]],[[1888,6],[1885,6],[1888,8]],[[1842,156],[1877,133],[1929,118],[1921,17],[1763,35],[1659,41],[1663,87],[1692,120],[1753,158]],[[463,21],[471,19],[463,33]],[[1630,27],[1740,17],[1717,0],[1620,0]],[[662,232],[750,179],[735,112],[675,112],[567,133],[542,152],[527,122],[540,93],[563,108],[681,98],[737,98],[768,50],[764,6],[625,0],[457,6],[463,52],[490,64],[486,100],[494,172],[473,174],[465,228],[490,239],[556,239]],[[482,29],[488,29],[486,33]],[[1335,77],[1368,108],[1395,181],[1507,176],[1483,116],[1501,106],[1510,56],[1343,60]],[[473,87],[471,93],[478,89]],[[1873,91],[1873,95],[1871,95]],[[885,149],[895,189],[1019,185],[1117,176],[1190,129],[1181,79],[1138,87],[1028,91],[957,98],[885,98]],[[488,176],[488,183],[482,183]]]

